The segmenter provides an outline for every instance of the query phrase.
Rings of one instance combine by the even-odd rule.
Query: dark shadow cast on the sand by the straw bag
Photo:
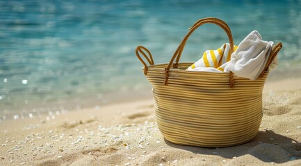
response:
[[[195,154],[217,155],[234,158],[250,154],[263,162],[286,163],[301,159],[301,143],[273,131],[259,131],[257,136],[242,145],[234,147],[206,148],[176,145],[165,139],[170,147],[184,149]]]

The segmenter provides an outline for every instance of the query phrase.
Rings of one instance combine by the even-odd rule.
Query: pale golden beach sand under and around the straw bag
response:
[[[58,115],[59,114],[59,115]],[[0,165],[301,165],[301,79],[267,82],[254,140],[175,145],[156,126],[152,96],[0,123]]]

